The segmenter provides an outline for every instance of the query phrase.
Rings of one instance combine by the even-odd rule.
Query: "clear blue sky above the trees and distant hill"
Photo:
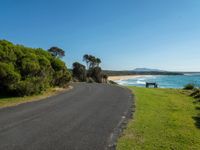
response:
[[[200,0],[1,0],[0,39],[104,69],[200,71]]]

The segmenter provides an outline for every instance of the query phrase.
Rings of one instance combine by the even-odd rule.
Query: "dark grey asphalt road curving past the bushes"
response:
[[[0,109],[0,150],[104,150],[129,116],[131,93],[106,84]]]

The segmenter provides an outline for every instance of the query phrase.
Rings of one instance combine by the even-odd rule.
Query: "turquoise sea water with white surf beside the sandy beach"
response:
[[[156,82],[160,88],[183,88],[188,83],[200,87],[200,74],[152,75],[128,80],[118,80],[116,82],[125,86],[140,87],[145,87],[146,82]]]

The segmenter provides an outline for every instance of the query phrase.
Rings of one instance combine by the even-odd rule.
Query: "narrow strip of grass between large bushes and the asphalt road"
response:
[[[2,96],[0,95],[0,108],[2,107],[9,107],[9,106],[16,106],[22,103],[32,102],[43,100],[47,97],[56,95],[60,92],[66,91],[68,89],[63,88],[49,88],[47,91],[33,96],[25,96],[25,97],[9,97],[9,96]]]

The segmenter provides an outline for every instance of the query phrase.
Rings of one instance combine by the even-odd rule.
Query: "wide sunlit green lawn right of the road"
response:
[[[117,150],[200,150],[200,120],[193,119],[199,115],[200,105],[187,92],[130,89],[136,96],[136,112],[118,140]]]

